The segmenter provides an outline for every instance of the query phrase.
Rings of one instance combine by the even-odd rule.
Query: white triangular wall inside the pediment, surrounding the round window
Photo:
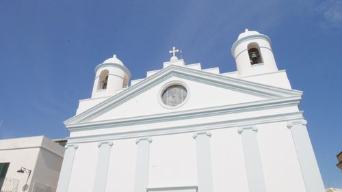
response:
[[[167,107],[163,107],[160,99],[161,92],[163,87],[175,81],[182,81],[186,85],[187,100],[182,107],[168,109]],[[222,87],[215,87],[206,83],[198,83],[196,81],[172,77],[167,81],[155,85],[155,87],[151,87],[149,90],[146,90],[146,92],[131,98],[112,111],[109,111],[98,118],[94,118],[92,121],[129,118],[139,115],[162,114],[168,112],[185,111],[189,109],[232,105],[236,103],[252,102],[257,100],[265,100],[265,98],[244,92],[237,92],[235,90],[228,90]]]

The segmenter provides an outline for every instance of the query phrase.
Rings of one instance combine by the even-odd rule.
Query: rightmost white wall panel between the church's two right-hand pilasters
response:
[[[306,191],[287,122],[259,124],[258,144],[268,191]]]

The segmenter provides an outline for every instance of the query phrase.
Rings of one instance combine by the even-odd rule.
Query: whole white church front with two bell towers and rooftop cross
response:
[[[246,31],[236,72],[185,64],[131,81],[116,55],[79,101],[57,192],[323,192],[302,92],[278,70],[269,38]],[[130,86],[129,86],[129,82]]]

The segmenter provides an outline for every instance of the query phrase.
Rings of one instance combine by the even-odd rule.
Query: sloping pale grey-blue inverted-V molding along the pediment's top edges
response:
[[[203,72],[201,70],[195,70],[192,68],[184,68],[181,66],[168,66],[163,70],[153,74],[152,76],[140,81],[139,83],[129,87],[115,96],[112,96],[108,100],[101,102],[100,104],[91,107],[90,109],[83,111],[79,115],[75,115],[73,118],[66,120],[64,124],[75,124],[79,122],[85,122],[92,120],[98,115],[106,113],[107,111],[114,109],[123,102],[142,94],[146,90],[150,89],[161,81],[165,81],[170,77],[179,77],[183,79],[189,79],[200,83],[206,83],[217,87],[224,87],[226,89],[236,90],[237,92],[244,92],[246,94],[252,94],[261,96],[263,98],[283,98],[291,96],[301,96],[302,92],[295,90],[287,90],[280,87],[272,87],[269,85],[263,85],[260,83],[254,83],[251,81],[245,81],[242,79],[236,79],[233,77],[226,77],[220,74],[212,74],[210,72]]]

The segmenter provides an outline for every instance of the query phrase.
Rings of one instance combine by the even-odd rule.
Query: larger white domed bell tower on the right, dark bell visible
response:
[[[240,77],[278,71],[271,40],[257,31],[246,29],[241,33],[232,46],[232,55]]]

